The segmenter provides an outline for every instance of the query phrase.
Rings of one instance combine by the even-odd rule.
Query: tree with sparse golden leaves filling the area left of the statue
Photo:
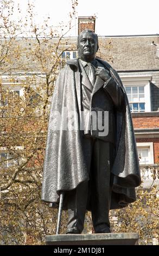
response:
[[[44,235],[55,233],[57,211],[41,202],[43,155],[54,81],[62,65],[61,54],[75,47],[63,36],[71,29],[77,4],[72,2],[70,22],[65,29],[59,27],[61,32],[58,32],[48,27],[47,21],[41,27],[34,24],[33,4],[28,3],[25,19],[14,21],[14,1],[1,1],[2,244],[41,244]],[[18,90],[21,95],[17,94]],[[65,216],[63,220],[66,221]]]

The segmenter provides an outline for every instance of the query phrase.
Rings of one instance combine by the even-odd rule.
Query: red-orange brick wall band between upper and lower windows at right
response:
[[[159,113],[158,117],[133,117],[133,128],[159,128]]]

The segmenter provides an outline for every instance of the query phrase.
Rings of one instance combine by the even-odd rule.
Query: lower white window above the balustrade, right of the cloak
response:
[[[137,143],[139,164],[154,164],[154,149],[152,142]]]

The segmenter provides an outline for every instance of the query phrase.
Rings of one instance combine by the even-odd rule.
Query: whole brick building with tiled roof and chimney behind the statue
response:
[[[79,33],[85,28],[89,28],[96,32],[95,23],[96,23],[95,17],[92,17],[92,16],[79,17]],[[3,70],[0,69],[0,84],[2,85],[2,87],[5,87],[5,89],[7,88],[11,92],[14,91],[20,97],[24,95],[24,87],[26,83],[25,81],[27,78],[30,79],[31,77],[34,77],[34,75],[36,75],[36,77],[38,77],[37,83],[39,82],[41,82],[41,84],[43,83],[43,81],[41,80],[43,80],[44,72],[42,71],[40,65],[38,65],[35,58],[30,59],[29,54],[27,56],[27,51],[30,52],[32,48],[34,48],[35,40],[36,39],[34,38],[30,38],[30,39],[27,38],[27,40],[22,38],[16,39],[14,41],[14,44],[17,44],[17,46],[20,46],[19,48],[21,50],[23,49],[23,51],[20,54],[20,58],[15,58],[15,56],[12,55],[12,63],[11,64],[9,63],[8,66],[5,67],[7,71],[3,72]],[[137,141],[138,155],[140,159],[139,162],[141,166],[141,175],[143,179],[142,186],[144,188],[150,188],[154,184],[158,185],[159,187],[159,179],[157,176],[158,175],[157,172],[159,169],[159,159],[158,159],[158,156],[159,156],[159,46],[158,46],[158,40],[159,40],[158,35],[99,36],[100,49],[98,52],[98,56],[107,60],[107,62],[109,62],[113,66],[113,68],[115,68],[118,71],[118,74],[122,79],[126,92],[128,94],[131,112],[132,112],[133,126],[135,129],[135,136]],[[41,38],[40,41],[42,42],[43,39]],[[56,48],[56,45],[58,44],[58,38],[51,38],[49,39],[49,41],[47,41],[47,44],[48,43],[50,44],[49,45],[50,47],[54,44]],[[78,53],[77,53],[76,45],[77,45],[77,37],[61,39],[60,45],[58,47],[58,50],[61,52],[60,68],[62,67],[63,64],[65,65],[66,59],[77,58]],[[43,47],[46,47],[46,42],[44,42]],[[64,48],[65,49],[67,48],[67,50],[63,51]],[[53,60],[53,57],[54,57],[54,52],[52,52],[52,56],[50,57],[51,61]],[[56,70],[56,73],[58,73],[58,71],[59,70]],[[14,78],[14,81],[12,80],[12,78]],[[33,84],[31,84],[31,86],[33,86]],[[35,84],[34,84],[34,89],[36,92]],[[3,105],[5,105],[4,103],[7,104],[7,102],[1,102],[1,92],[0,92],[0,106],[2,108],[3,108]],[[3,123],[3,118],[2,118],[2,123]],[[15,123],[15,130],[13,129],[13,131],[16,133],[16,123]],[[36,129],[35,129],[35,132],[36,132]],[[28,134],[30,136],[31,133],[27,133],[27,136]],[[5,132],[1,131],[1,136],[4,137],[4,135],[5,135]],[[26,135],[24,135],[24,141],[26,140],[25,136]],[[43,136],[44,135],[42,133],[42,137]],[[17,134],[16,137],[20,137],[20,136]],[[14,143],[14,138],[11,138],[11,136],[9,137],[9,140]],[[5,144],[3,145],[3,147],[0,147],[0,163],[1,163],[0,169],[2,167],[7,169],[6,171],[7,179],[8,179],[8,168],[11,169],[14,164],[16,166],[17,162],[20,165],[22,162],[22,165],[23,165],[24,155],[23,153],[21,153],[21,151],[24,151],[25,148],[23,147],[22,140],[21,142],[22,143],[17,143],[13,145],[11,144],[12,146],[16,146],[14,147],[13,150],[16,153],[14,157],[18,161],[14,161],[14,159],[12,160],[12,155],[9,155],[8,147],[5,147]],[[35,142],[35,139],[34,139],[34,142]],[[5,139],[4,139],[4,143],[5,143]],[[2,142],[1,142],[1,145],[2,145]],[[37,142],[37,145],[39,145],[38,142]],[[12,146],[11,146],[11,151],[13,151]],[[36,148],[36,150],[38,150],[38,148]],[[20,159],[18,158],[17,153],[20,155]],[[31,173],[31,170],[34,170],[36,167],[35,170],[36,171],[38,170],[36,175],[39,174],[39,169],[42,168],[42,164],[41,166],[38,166],[37,162],[34,161],[34,159],[32,164],[34,166],[34,168],[32,169],[30,168],[30,166],[28,165],[26,166],[27,170],[29,169],[29,173]],[[2,174],[3,173],[1,172],[0,173],[1,177],[2,177]],[[20,190],[18,192],[21,192],[22,190],[24,191],[24,194],[26,194],[26,187],[29,187],[29,186],[25,185],[24,175],[25,173],[23,169],[22,176],[20,176],[20,178],[22,178],[24,188],[22,190],[22,186],[20,185]],[[14,175],[13,175],[13,178],[15,179]],[[39,180],[39,176],[38,176],[38,180]],[[18,179],[16,180],[16,182],[18,184],[19,182]],[[29,182],[30,182],[30,179],[29,179]],[[10,191],[12,193],[12,191],[14,191],[14,187]],[[32,191],[30,192],[30,191],[29,193],[27,193],[27,197],[30,198],[29,194],[31,194],[31,199],[32,199],[33,192]],[[1,194],[2,194],[2,198],[5,197],[5,193],[6,193],[6,197],[8,197],[9,190],[7,189],[7,190],[1,191],[0,198],[1,198]],[[18,203],[19,203],[19,200],[18,200]],[[15,211],[15,214],[17,215],[17,211]],[[7,212],[7,216],[8,215],[9,215],[9,212]],[[117,217],[113,216],[113,221],[117,222]],[[23,225],[23,221],[22,221],[22,225]],[[29,234],[28,237],[30,239],[29,232],[26,234],[27,235]],[[29,241],[27,242],[29,243]]]

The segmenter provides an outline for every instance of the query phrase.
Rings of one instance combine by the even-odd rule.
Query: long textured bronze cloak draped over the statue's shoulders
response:
[[[116,157],[112,167],[113,185],[111,209],[119,209],[135,202],[135,187],[141,184],[136,140],[133,131],[128,97],[117,72],[107,63],[98,59],[124,92],[124,111],[116,112]],[[61,191],[75,189],[81,182],[89,180],[86,163],[82,153],[82,131],[79,129],[81,109],[81,84],[78,59],[69,60],[67,66],[60,71],[52,98],[46,155],[43,167],[42,200],[59,203]],[[100,89],[100,88],[99,88]],[[96,95],[94,95],[96,96]],[[55,111],[59,111],[61,119],[66,112],[75,111],[76,130],[53,129],[56,120]]]

